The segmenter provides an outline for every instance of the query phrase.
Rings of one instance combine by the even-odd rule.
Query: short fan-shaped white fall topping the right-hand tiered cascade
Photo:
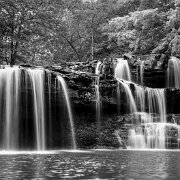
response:
[[[131,73],[127,60],[122,58],[117,59],[114,77],[126,81],[131,81]]]

